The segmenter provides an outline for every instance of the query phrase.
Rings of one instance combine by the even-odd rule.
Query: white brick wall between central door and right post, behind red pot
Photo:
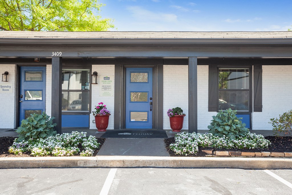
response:
[[[188,66],[163,66],[163,129],[171,129],[167,111],[169,108],[180,107],[186,114],[183,129],[188,129]]]

